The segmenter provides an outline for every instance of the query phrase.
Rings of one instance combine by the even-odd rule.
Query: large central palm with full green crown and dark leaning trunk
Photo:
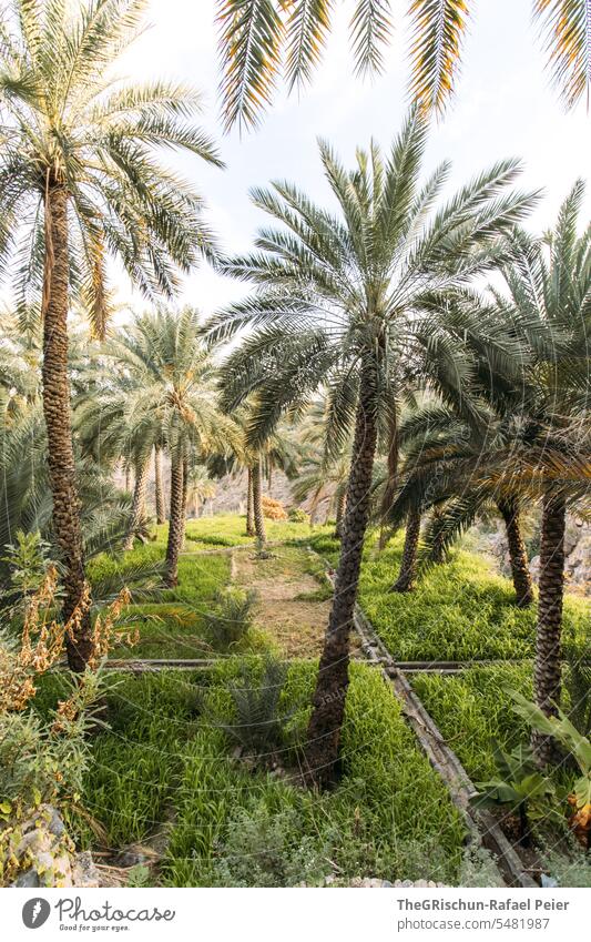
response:
[[[288,183],[256,190],[255,204],[282,227],[263,230],[258,252],[223,265],[258,285],[213,326],[222,337],[251,328],[226,362],[234,377],[226,395],[236,405],[253,396],[254,444],[320,386],[342,436],[354,417],[340,561],[306,748],[308,777],[318,784],[336,774],[378,424],[393,401],[396,365],[412,361],[451,399],[461,395],[470,375],[461,337],[475,318],[460,298],[502,256],[499,233],[532,204],[531,195],[507,192],[519,165],[506,161],[431,215],[447,165],[419,186],[426,139],[426,121],[414,112],[387,160],[373,144],[357,153],[351,172],[320,143],[338,214]]]

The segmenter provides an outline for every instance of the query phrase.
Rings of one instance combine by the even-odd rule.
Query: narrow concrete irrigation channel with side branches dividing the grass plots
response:
[[[281,543],[277,541],[274,545],[281,545]],[[215,553],[233,554],[246,549],[252,550],[252,544],[187,555],[195,557]],[[327,578],[334,583],[334,571],[326,560],[322,559],[312,547],[307,547],[307,551],[322,560]],[[418,672],[458,673],[475,664],[498,661],[396,661],[358,605],[355,607],[354,627],[360,639],[360,651],[368,662],[381,672],[394,696],[401,702],[406,721],[415,732],[430,764],[445,782],[454,804],[461,813],[468,831],[467,843],[483,847],[493,854],[499,875],[508,887],[538,887],[526,872],[522,861],[495,817],[489,811],[471,806],[470,797],[477,791],[475,784],[406,677],[407,673]],[[215,660],[215,658],[110,659],[105,667],[113,671],[134,673],[160,670],[207,670]]]

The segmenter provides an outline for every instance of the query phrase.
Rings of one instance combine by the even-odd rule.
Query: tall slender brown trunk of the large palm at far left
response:
[[[84,550],[70,414],[68,280],[68,193],[65,188],[52,185],[45,195],[43,415],[53,498],[53,533],[64,565],[63,618],[69,620],[74,616],[72,637],[65,637],[68,664],[72,670],[82,671],[92,652],[92,628],[88,600],[84,601]]]

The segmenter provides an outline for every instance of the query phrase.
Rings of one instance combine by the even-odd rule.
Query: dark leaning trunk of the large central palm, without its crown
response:
[[[338,778],[340,729],[349,683],[349,635],[369,519],[377,416],[375,384],[367,371],[364,373],[357,405],[340,558],[305,750],[306,779],[309,784],[320,788],[332,784]]]

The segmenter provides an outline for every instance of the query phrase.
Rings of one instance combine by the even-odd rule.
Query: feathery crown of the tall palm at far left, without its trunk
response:
[[[174,265],[212,246],[203,203],[155,155],[160,146],[220,164],[192,123],[200,97],[182,85],[126,85],[111,73],[136,37],[143,0],[12,0],[0,24],[0,265],[16,255],[20,297],[43,274],[42,204],[69,195],[70,274],[95,331],[109,313],[105,262],[116,255],[152,293],[171,293]]]

